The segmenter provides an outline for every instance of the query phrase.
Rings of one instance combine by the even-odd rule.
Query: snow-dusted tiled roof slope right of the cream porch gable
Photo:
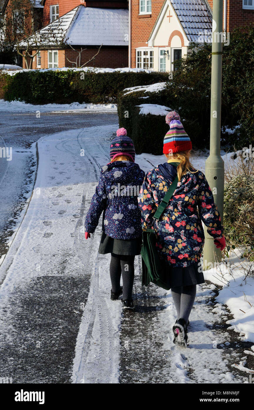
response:
[[[171,0],[189,41],[198,41],[198,32],[212,31],[212,15],[205,0]]]

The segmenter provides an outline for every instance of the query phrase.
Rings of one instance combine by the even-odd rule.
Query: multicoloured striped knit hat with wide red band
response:
[[[166,115],[166,123],[170,130],[166,133],[163,141],[163,153],[179,153],[191,150],[192,144],[189,135],[184,131],[180,121],[180,115],[176,111],[171,111]]]

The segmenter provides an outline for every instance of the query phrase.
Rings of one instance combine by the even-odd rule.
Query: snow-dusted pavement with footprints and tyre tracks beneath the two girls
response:
[[[0,376],[13,383],[243,383],[245,371],[232,364],[253,343],[227,330],[232,317],[215,300],[214,284],[198,286],[187,349],[172,342],[170,291],[141,287],[140,256],[136,311],[110,301],[110,255],[98,254],[101,220],[87,241],[83,225],[117,128],[38,140],[33,196],[0,266]],[[137,155],[144,171],[161,159]]]

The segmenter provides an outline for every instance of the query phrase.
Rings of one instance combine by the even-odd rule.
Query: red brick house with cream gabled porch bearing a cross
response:
[[[213,0],[130,0],[129,66],[173,71],[198,32],[211,31]],[[223,30],[254,23],[254,0],[224,0]]]

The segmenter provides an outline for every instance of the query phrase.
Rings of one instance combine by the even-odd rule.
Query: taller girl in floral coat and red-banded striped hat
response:
[[[189,161],[191,141],[175,111],[166,116],[170,130],[164,138],[163,153],[168,161],[148,171],[139,194],[142,229],[155,229],[157,251],[169,271],[169,283],[178,319],[173,326],[174,343],[187,345],[189,314],[196,285],[204,283],[200,256],[205,242],[202,222],[221,250],[225,248],[223,226],[205,175]],[[158,205],[178,176],[178,185],[164,213],[153,226]]]

